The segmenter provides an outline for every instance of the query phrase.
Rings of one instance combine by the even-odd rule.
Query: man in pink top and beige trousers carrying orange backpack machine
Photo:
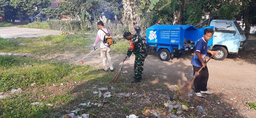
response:
[[[111,60],[111,56],[110,56],[110,45],[113,44],[113,41],[111,40],[111,33],[109,31],[109,29],[104,27],[104,24],[102,21],[99,21],[97,23],[97,26],[99,28],[99,31],[97,33],[96,36],[96,40],[93,44],[93,48],[95,49],[95,46],[98,44],[98,42],[101,40],[100,43],[100,57],[102,59],[103,62],[103,71],[108,71],[108,67],[107,67],[107,60],[108,60],[108,64],[109,64],[109,68],[111,72],[114,72],[114,67],[113,67],[113,63]],[[112,42],[111,42],[112,41]]]

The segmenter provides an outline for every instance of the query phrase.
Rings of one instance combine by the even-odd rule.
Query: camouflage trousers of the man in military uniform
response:
[[[135,54],[135,61],[134,61],[134,75],[135,78],[141,78],[141,74],[143,71],[143,64],[144,60],[146,58],[146,55],[138,53]]]

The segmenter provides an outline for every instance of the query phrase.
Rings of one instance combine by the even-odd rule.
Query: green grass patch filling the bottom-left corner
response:
[[[73,100],[72,95],[51,96],[47,100],[33,100],[31,94],[15,94],[10,98],[0,99],[0,117],[3,118],[52,118],[56,117],[54,109]],[[42,105],[32,105],[39,102]],[[45,104],[52,104],[47,106]],[[58,116],[59,117],[59,116]]]

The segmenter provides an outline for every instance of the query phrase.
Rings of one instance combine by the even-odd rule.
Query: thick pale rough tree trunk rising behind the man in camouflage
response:
[[[135,32],[134,27],[140,26],[139,21],[142,15],[137,14],[139,8],[139,3],[135,3],[136,0],[123,0],[124,5],[124,16],[122,22],[128,26],[131,32]]]

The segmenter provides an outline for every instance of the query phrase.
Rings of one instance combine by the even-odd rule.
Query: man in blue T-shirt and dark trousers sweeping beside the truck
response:
[[[204,37],[200,38],[197,41],[194,56],[191,60],[194,75],[195,72],[199,71],[202,66],[204,67],[200,71],[200,74],[196,76],[194,80],[195,94],[199,97],[202,97],[201,93],[212,94],[212,92],[206,88],[209,78],[208,68],[206,66],[206,57],[207,53],[211,53],[212,55],[216,54],[215,51],[207,49],[208,41],[212,38],[213,32],[214,31],[211,28],[207,28],[204,30]]]

